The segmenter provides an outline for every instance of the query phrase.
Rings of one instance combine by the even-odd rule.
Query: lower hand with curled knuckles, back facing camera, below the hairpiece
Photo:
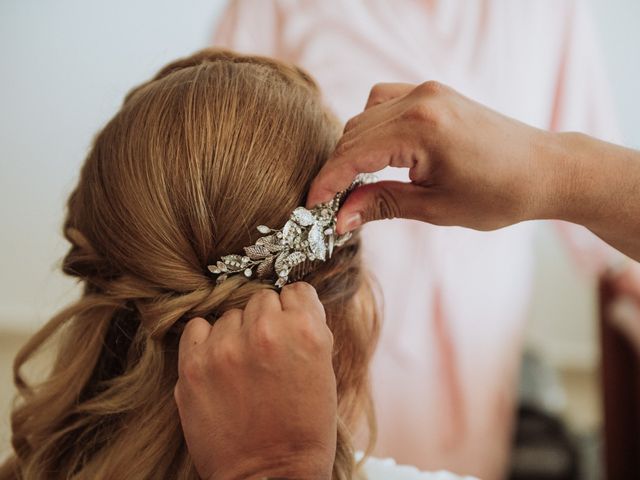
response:
[[[330,479],[336,449],[333,336],[314,288],[264,290],[180,339],[175,399],[206,479]]]

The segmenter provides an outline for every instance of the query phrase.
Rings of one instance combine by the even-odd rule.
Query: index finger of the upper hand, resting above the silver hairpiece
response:
[[[413,157],[402,155],[405,132],[399,122],[390,120],[366,130],[355,138],[341,140],[333,155],[313,180],[307,207],[331,200],[348,188],[359,173],[375,173],[391,165],[412,167]]]

